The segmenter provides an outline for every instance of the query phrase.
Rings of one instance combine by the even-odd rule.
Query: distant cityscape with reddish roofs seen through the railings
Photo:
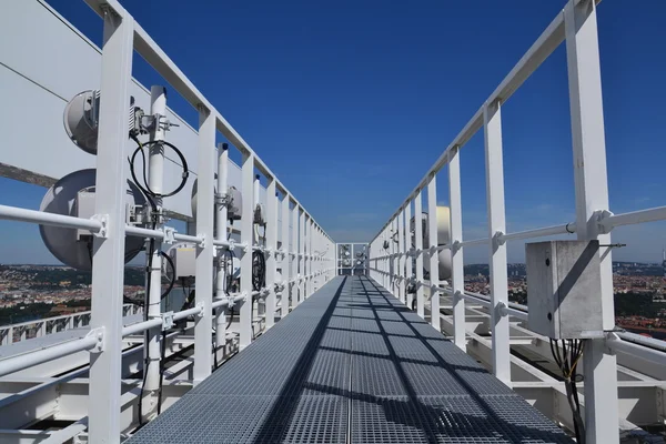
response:
[[[527,303],[525,264],[508,265],[508,299]],[[465,290],[490,294],[487,264],[465,266]],[[143,293],[143,268],[125,269],[125,295]],[[658,263],[614,262],[616,323],[666,339],[666,278]],[[64,265],[0,265],[0,325],[90,310],[91,273]]]

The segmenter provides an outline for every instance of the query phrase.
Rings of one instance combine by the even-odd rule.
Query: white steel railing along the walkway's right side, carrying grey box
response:
[[[578,240],[599,240],[604,245],[601,263],[602,314],[604,331],[608,336],[585,340],[584,394],[587,443],[618,442],[618,394],[615,350],[639,355],[653,362],[666,362],[663,351],[647,349],[649,344],[636,341],[636,335],[616,334],[613,306],[613,276],[609,231],[619,225],[666,220],[666,206],[613,214],[608,209],[606,176],[606,148],[594,0],[569,0],[564,10],[551,22],[537,41],[523,56],[491,97],[476,111],[458,135],[448,144],[430,168],[416,188],[407,195],[370,244],[370,275],[396,297],[410,302],[405,284],[416,286],[416,310],[424,316],[424,290],[431,290],[431,322],[440,329],[440,297],[437,293],[451,292],[455,344],[466,350],[465,301],[485,306],[491,315],[492,367],[494,374],[507,385],[511,379],[509,316],[525,319],[526,312],[508,303],[506,242],[556,234],[575,234]],[[575,164],[576,222],[537,230],[506,233],[504,202],[504,168],[502,161],[502,107],[523,82],[553,53],[566,43],[573,154]],[[485,138],[485,172],[487,190],[488,236],[463,240],[461,150],[470,139],[483,130]],[[451,208],[451,243],[437,245],[436,175],[447,165],[448,203]],[[415,246],[411,245],[411,211],[422,212],[422,193],[427,193],[430,245],[422,245],[422,226],[415,223]],[[392,238],[397,233],[397,243]],[[389,241],[387,249],[384,249]],[[491,296],[471,294],[464,290],[463,253],[465,248],[487,245]],[[437,283],[437,254],[443,249],[452,252],[450,287]],[[416,269],[412,270],[415,256]],[[431,261],[431,280],[424,281],[423,262]],[[415,275],[415,278],[413,278]],[[526,307],[525,307],[526,310]]]

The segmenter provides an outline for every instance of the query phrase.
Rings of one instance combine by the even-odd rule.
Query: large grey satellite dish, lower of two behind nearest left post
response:
[[[90,210],[94,199],[95,170],[74,171],[60,179],[47,191],[42,199],[40,211],[54,214],[83,216],[79,208],[79,192],[88,192],[92,200],[88,201],[87,209]],[[90,195],[92,194],[92,195]],[[128,180],[125,202],[137,205],[145,205],[145,198],[132,182]],[[93,211],[93,210],[92,210]],[[90,214],[92,215],[92,214]],[[90,216],[87,215],[87,216]],[[81,239],[82,232],[77,229],[39,225],[39,232],[47,249],[60,262],[78,269],[90,271],[92,269],[92,251],[90,242]],[[83,233],[84,234],[84,233]],[[84,234],[83,238],[85,238]],[[143,249],[144,239],[125,236],[125,263],[131,261]]]

